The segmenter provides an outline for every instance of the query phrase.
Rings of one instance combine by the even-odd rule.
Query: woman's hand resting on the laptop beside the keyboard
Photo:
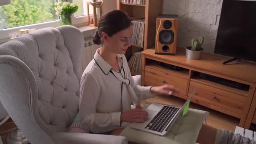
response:
[[[148,113],[141,109],[132,109],[127,112],[121,112],[121,122],[142,123],[148,118]]]

